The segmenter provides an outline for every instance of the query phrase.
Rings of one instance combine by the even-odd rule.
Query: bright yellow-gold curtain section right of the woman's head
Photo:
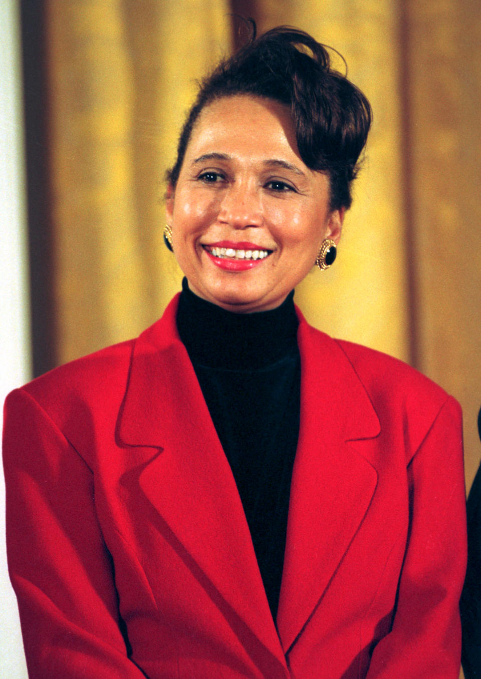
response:
[[[354,184],[336,265],[313,271],[296,299],[317,327],[336,337],[410,359],[401,166],[397,3],[298,0],[258,3],[260,29],[292,24],[332,45],[348,76],[365,92],[374,122]],[[265,10],[264,12],[262,10]],[[340,58],[334,65],[344,72]]]

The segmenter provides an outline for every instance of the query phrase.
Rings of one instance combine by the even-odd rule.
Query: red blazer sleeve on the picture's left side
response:
[[[7,557],[29,676],[140,679],[122,636],[92,471],[24,390],[5,401]]]

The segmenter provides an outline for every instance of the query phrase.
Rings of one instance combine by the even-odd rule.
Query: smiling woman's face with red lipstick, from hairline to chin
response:
[[[343,210],[329,181],[302,162],[289,109],[221,98],[192,131],[167,222],[177,261],[199,297],[235,312],[273,309],[338,241]]]

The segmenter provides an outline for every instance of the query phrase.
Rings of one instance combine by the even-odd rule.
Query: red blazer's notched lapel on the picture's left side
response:
[[[141,491],[226,610],[286,668],[236,483],[177,334],[176,311],[174,298],[136,342],[119,436],[161,448],[141,472]]]

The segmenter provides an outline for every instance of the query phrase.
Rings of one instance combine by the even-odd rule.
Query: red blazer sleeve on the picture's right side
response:
[[[458,679],[466,564],[462,418],[449,398],[408,464],[410,531],[391,632],[368,679]]]

